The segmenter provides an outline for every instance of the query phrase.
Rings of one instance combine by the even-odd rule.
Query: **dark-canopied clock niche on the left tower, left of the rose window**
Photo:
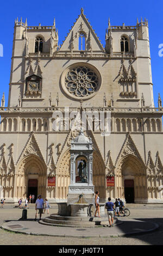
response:
[[[42,78],[31,75],[26,78],[26,97],[37,97],[41,95]]]

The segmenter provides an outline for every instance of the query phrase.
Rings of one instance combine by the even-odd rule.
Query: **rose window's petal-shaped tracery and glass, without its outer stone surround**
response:
[[[98,76],[87,66],[77,66],[67,72],[65,87],[74,96],[90,96],[98,88]]]

